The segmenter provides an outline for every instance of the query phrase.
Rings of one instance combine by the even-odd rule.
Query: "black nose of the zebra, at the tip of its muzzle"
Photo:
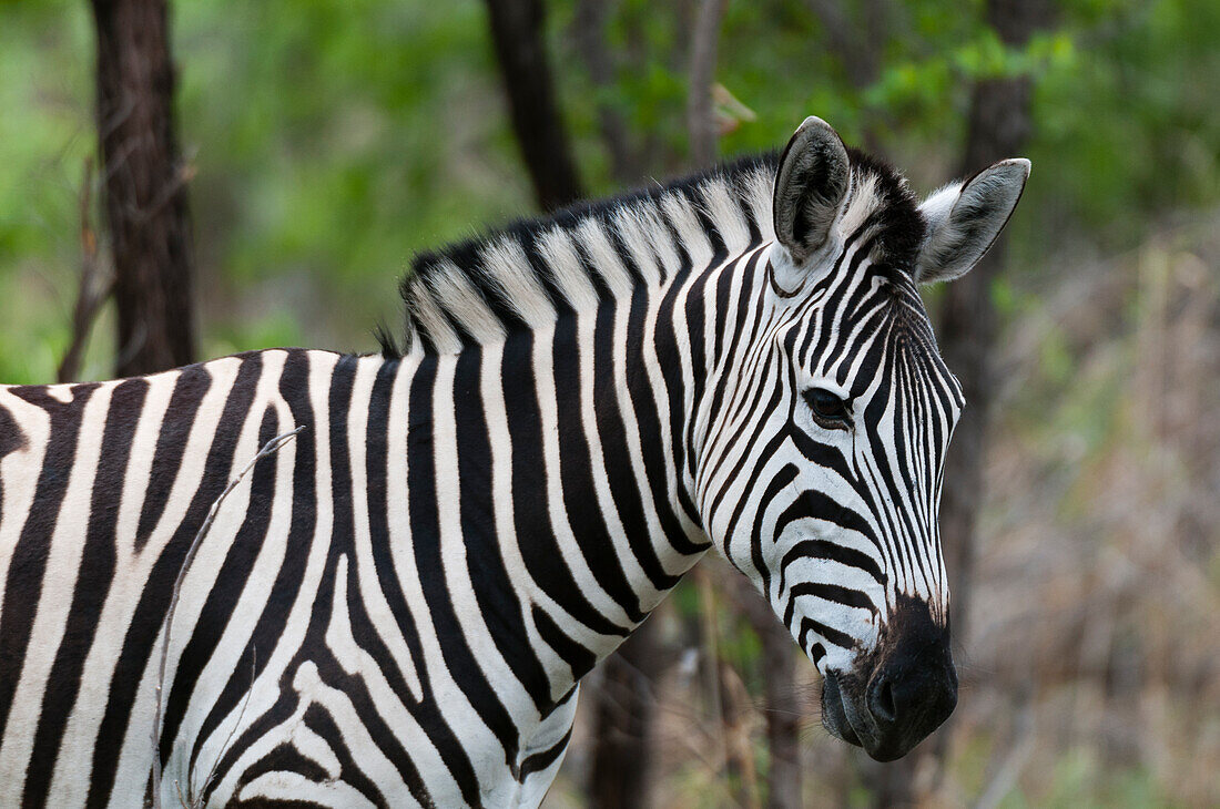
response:
[[[958,704],[958,673],[948,630],[936,626],[928,616],[926,623],[905,623],[865,691],[865,707],[876,727],[869,754],[881,761],[905,755]]]

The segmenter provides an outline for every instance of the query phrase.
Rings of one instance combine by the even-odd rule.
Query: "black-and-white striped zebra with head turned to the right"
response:
[[[154,760],[166,805],[538,805],[582,676],[710,548],[827,730],[905,754],[956,702],[964,402],[919,285],[978,262],[1028,171],[920,202],[810,117],[418,256],[379,353],[0,387],[0,805],[145,805]]]

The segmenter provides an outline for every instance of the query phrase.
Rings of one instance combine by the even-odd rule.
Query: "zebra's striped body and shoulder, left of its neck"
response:
[[[209,791],[215,805],[253,796],[323,805],[368,798],[409,805],[411,797],[512,805],[532,785],[526,777],[518,785],[510,770],[549,782],[575,709],[573,676],[560,674],[566,664],[554,657],[545,669],[533,663],[512,674],[482,609],[488,598],[511,597],[488,591],[508,582],[481,579],[476,593],[470,581],[470,567],[503,562],[467,562],[479,547],[473,529],[459,524],[460,514],[440,513],[443,495],[423,491],[456,485],[458,465],[477,459],[459,453],[453,419],[447,425],[436,413],[456,412],[455,384],[479,383],[458,364],[456,357],[421,363],[273,350],[143,379],[5,390],[0,401],[20,420],[26,446],[0,462],[4,515],[35,497],[62,504],[38,614],[24,630],[32,642],[5,646],[6,664],[24,653],[20,679],[5,673],[6,688],[16,686],[4,694],[9,726],[38,733],[6,733],[0,779],[26,781],[27,798],[45,794],[48,805],[140,805],[152,755],[156,643],[177,568],[228,478],[261,443],[306,424],[224,502],[183,581],[166,676],[166,782],[201,794],[226,742],[231,758],[222,758]],[[421,409],[434,412],[422,419],[431,437],[407,426]],[[55,474],[57,481],[29,474],[62,457],[71,472]],[[414,500],[405,496],[409,479]],[[503,482],[478,504],[470,502],[477,489],[464,492],[467,508],[493,512],[495,485]],[[431,514],[421,497],[434,498]],[[109,507],[98,508],[99,501]],[[29,504],[24,510],[37,517]],[[5,531],[10,525],[0,523]],[[35,530],[17,528],[26,537]],[[73,539],[60,541],[61,534]],[[5,543],[10,570],[37,563],[27,558],[29,545]],[[105,599],[89,609],[56,597],[99,591]],[[10,629],[22,618],[32,616],[6,609],[0,623]],[[499,620],[498,631],[523,630],[520,619]],[[93,642],[76,645],[67,634],[89,634]],[[529,634],[537,638],[532,626]],[[450,662],[455,654],[462,659]],[[497,684],[493,693],[486,682],[471,684],[479,677]],[[62,684],[81,690],[73,694]],[[88,693],[89,685],[104,698]],[[477,696],[461,697],[464,687]],[[378,722],[377,742],[357,743]],[[326,730],[350,748],[326,740]],[[290,749],[329,783],[274,771],[250,776],[277,760],[292,770],[301,759]],[[370,760],[378,749],[382,760]],[[43,761],[54,770],[39,768]],[[344,783],[351,768],[377,782],[370,796]]]

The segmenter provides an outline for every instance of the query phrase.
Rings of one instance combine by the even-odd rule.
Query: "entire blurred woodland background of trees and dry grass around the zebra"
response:
[[[1215,0],[0,0],[0,381],[372,351],[414,251],[806,115],[921,194],[1024,155],[1006,242],[926,290],[954,718],[831,738],[709,560],[547,805],[1220,805],[1218,43]]]

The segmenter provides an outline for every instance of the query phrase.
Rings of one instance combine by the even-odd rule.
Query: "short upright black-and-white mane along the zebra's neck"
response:
[[[741,252],[770,239],[776,155],[752,156],[422,252],[399,289],[406,351],[453,353],[559,312],[630,297],[689,264],[692,244]],[[401,356],[378,335],[382,353]]]

